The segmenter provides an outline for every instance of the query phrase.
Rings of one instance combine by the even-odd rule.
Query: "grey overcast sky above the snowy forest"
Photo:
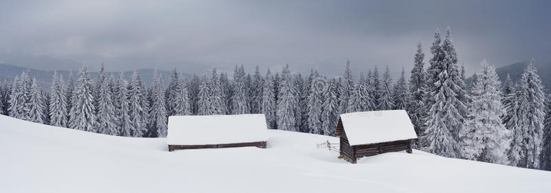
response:
[[[0,62],[39,69],[410,69],[452,27],[475,71],[551,61],[551,1],[1,1]],[[41,62],[44,61],[44,62]]]

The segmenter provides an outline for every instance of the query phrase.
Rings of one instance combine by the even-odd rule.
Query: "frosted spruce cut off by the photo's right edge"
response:
[[[543,122],[543,141],[540,154],[540,169],[551,171],[551,98],[547,102],[547,114]]]

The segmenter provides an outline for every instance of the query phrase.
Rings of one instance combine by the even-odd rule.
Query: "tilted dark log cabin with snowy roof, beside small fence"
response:
[[[366,111],[340,115],[335,136],[340,136],[340,157],[356,163],[360,157],[406,150],[417,139],[404,110]]]

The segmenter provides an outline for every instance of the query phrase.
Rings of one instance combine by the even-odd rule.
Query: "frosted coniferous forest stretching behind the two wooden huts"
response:
[[[127,80],[102,64],[98,77],[86,66],[67,82],[54,73],[51,88],[42,90],[23,71],[1,85],[0,113],[107,135],[166,137],[171,115],[263,113],[270,129],[333,135],[342,113],[404,109],[419,137],[417,149],[551,170],[551,103],[533,60],[517,82],[501,82],[495,67],[481,61],[467,84],[449,27],[444,34],[437,30],[430,46],[419,43],[412,51],[413,69],[402,68],[397,78],[388,67],[358,72],[346,62],[336,78],[315,69],[302,76],[289,65],[265,72],[256,67],[252,74],[236,66],[233,74],[213,69],[191,79],[176,69],[166,78],[154,72],[145,85],[139,71]]]

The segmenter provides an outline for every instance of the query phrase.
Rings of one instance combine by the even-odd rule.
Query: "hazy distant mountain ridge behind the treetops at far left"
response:
[[[27,71],[27,69],[30,69],[30,73],[32,74],[32,76],[34,78],[37,78],[37,81],[43,83],[44,86],[48,86],[50,84],[50,82],[52,82],[52,76],[54,75],[53,70],[43,71],[43,70],[39,70],[39,69],[33,69],[33,68],[27,68],[27,67],[18,67],[18,66],[7,65],[7,64],[2,64],[2,63],[0,63],[0,77],[8,79],[8,78],[14,78],[15,76],[21,76],[21,73],[23,71]],[[111,74],[113,74],[113,76],[115,78],[118,78],[118,76],[121,73],[120,71],[109,71],[109,69],[106,69],[106,70],[107,70],[107,76],[110,76]],[[153,82],[153,71],[154,71],[154,69],[140,69],[143,84],[149,85]],[[170,77],[170,71],[163,71],[163,70],[157,70],[157,71],[160,74],[160,76],[163,77],[163,82],[165,84],[168,84],[168,78]],[[133,72],[134,71],[124,71],[125,78],[127,80],[132,78],[132,73]],[[65,80],[65,84],[67,84],[67,79],[69,78],[69,75],[70,75],[71,71],[58,70],[57,73],[58,73],[58,75],[60,75],[60,74],[63,75],[63,79]],[[79,71],[72,71],[72,73],[73,73],[73,76],[76,80],[76,76],[77,76],[77,73],[79,73]],[[191,76],[192,76],[189,73],[180,72],[180,74],[182,74],[185,78],[191,78]],[[97,77],[98,77],[98,72],[97,71],[90,71],[90,79],[95,80]]]

